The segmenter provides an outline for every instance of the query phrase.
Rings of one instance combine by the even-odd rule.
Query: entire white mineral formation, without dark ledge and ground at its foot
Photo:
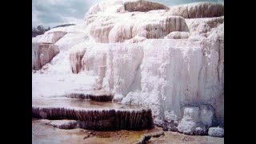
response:
[[[171,130],[197,134],[223,127],[222,6],[189,5],[193,14],[209,6],[218,14],[214,17],[208,10],[213,18],[182,18],[171,15],[182,15],[178,8],[173,13],[172,9],[128,12],[122,10],[122,1],[102,2],[86,13],[85,22],[32,38],[54,42],[62,37],[54,42],[59,54],[32,74],[33,98],[96,86],[114,93],[116,102],[149,106],[155,124]],[[197,112],[187,114],[187,107]]]

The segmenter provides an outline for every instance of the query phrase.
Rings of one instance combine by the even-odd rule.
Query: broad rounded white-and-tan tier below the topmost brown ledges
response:
[[[161,13],[98,14],[95,17],[94,22],[90,22],[90,34],[96,42],[124,42],[136,36],[163,38],[172,31],[188,31],[184,18]]]

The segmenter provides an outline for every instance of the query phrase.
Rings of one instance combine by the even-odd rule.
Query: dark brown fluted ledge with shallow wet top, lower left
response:
[[[78,120],[80,127],[90,130],[140,130],[153,127],[150,109],[82,99],[34,99],[32,116]]]

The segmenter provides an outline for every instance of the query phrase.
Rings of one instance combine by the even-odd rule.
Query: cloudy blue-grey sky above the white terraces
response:
[[[32,0],[32,26],[44,27],[82,22],[87,10],[102,0]],[[166,6],[190,2],[224,2],[224,0],[151,0]]]

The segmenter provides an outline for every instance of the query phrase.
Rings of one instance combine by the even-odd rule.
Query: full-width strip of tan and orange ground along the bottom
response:
[[[164,133],[164,135],[163,135]],[[116,131],[94,131],[83,129],[63,130],[46,124],[41,119],[32,119],[32,143],[116,143],[130,144],[144,142],[143,139],[149,135],[158,135],[150,138],[146,143],[224,143],[224,138],[209,136],[190,136],[175,132],[163,132],[162,128],[152,130],[116,130]],[[162,135],[159,137],[159,135]]]

